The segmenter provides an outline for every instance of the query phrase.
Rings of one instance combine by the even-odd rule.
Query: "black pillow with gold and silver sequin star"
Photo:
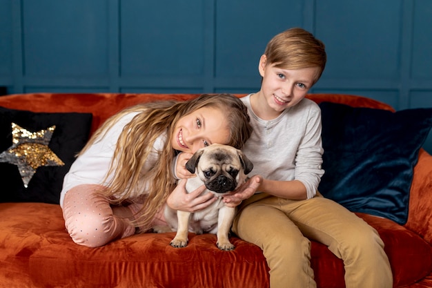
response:
[[[84,147],[91,113],[0,107],[0,202],[59,203],[63,177]]]

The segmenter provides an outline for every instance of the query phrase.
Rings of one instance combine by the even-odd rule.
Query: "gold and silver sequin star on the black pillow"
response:
[[[48,148],[55,125],[45,130],[30,132],[26,128],[12,123],[12,146],[0,154],[0,162],[18,166],[24,187],[35,175],[40,166],[63,166],[54,152]]]

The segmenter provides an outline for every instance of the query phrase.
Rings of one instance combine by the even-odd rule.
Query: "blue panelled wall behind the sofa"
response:
[[[432,107],[430,0],[0,0],[0,86],[249,93],[267,41],[293,26],[327,47],[311,92]]]

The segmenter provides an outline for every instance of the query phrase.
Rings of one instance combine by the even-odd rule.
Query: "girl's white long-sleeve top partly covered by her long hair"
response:
[[[106,185],[111,179],[110,175],[106,181],[104,179],[108,173],[112,157],[117,145],[117,140],[124,126],[128,124],[135,115],[139,112],[132,112],[121,117],[101,139],[94,142],[83,154],[79,155],[75,162],[72,163],[68,173],[63,180],[63,189],[60,194],[60,206],[63,207],[63,200],[66,192],[72,187],[80,184],[101,184]],[[143,137],[146,137],[143,135]],[[159,152],[164,148],[166,142],[166,134],[157,138],[153,145],[153,151],[148,155],[146,164],[141,170],[141,174],[145,175],[159,159]],[[143,179],[144,180],[144,179]],[[145,181],[145,180],[144,180]],[[144,189],[145,190],[145,189]],[[133,191],[131,197],[138,197],[145,191]]]

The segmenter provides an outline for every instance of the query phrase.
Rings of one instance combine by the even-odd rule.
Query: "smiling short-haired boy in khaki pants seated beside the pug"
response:
[[[324,44],[301,28],[268,42],[259,59],[261,89],[242,98],[254,128],[242,150],[259,176],[225,197],[233,206],[245,200],[233,231],[261,247],[271,288],[316,287],[309,239],[344,260],[346,287],[390,288],[391,267],[377,231],[317,193],[324,174],[321,113],[305,96],[325,64]],[[257,193],[248,198],[251,186]]]

